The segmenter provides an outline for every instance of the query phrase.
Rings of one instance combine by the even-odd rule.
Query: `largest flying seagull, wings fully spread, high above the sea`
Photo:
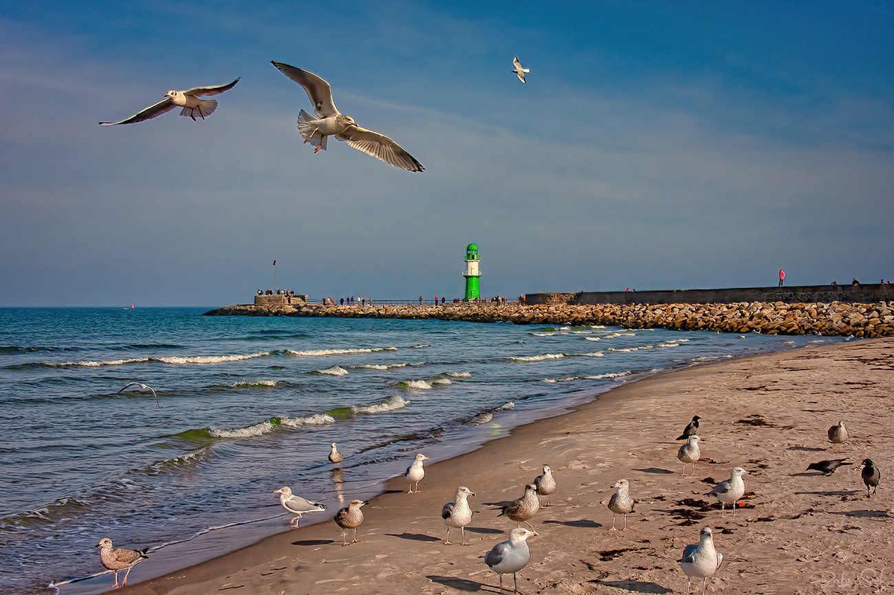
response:
[[[303,87],[308,93],[310,103],[314,105],[314,112],[319,119],[304,110],[301,110],[298,117],[298,130],[304,137],[304,142],[316,147],[314,153],[320,149],[325,151],[326,137],[334,134],[335,138],[347,141],[349,147],[373,155],[376,159],[381,159],[394,167],[400,167],[408,172],[422,172],[426,169],[391,138],[373,130],[360,128],[350,115],[339,112],[333,101],[332,88],[325,80],[313,72],[302,71],[289,64],[274,60],[270,62]]]

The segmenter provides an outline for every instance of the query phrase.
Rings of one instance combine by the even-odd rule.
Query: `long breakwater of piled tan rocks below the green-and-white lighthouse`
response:
[[[845,337],[894,336],[894,302],[785,304],[445,304],[443,306],[227,306],[207,315],[402,318],[514,324],[603,324],[630,329],[761,332]]]

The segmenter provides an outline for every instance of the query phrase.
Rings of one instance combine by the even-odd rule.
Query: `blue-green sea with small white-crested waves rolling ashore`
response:
[[[0,308],[0,593],[111,590],[104,537],[149,549],[130,582],[173,572],[289,531],[283,486],[328,507],[302,524],[328,521],[417,452],[645,375],[845,340],[207,309]],[[698,413],[668,406],[679,429]]]

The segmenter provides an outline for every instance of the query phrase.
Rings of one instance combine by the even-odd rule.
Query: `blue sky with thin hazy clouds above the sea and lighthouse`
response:
[[[894,277],[890,2],[0,8],[0,306]],[[527,85],[512,56],[531,69]],[[426,166],[314,155],[313,71]],[[192,122],[117,122],[240,83]]]

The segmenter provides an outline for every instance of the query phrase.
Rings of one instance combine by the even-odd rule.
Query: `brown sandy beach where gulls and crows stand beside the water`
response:
[[[662,373],[426,465],[420,493],[393,479],[364,507],[359,543],[342,547],[341,529],[326,520],[120,592],[494,593],[498,577],[483,557],[515,526],[499,508],[519,498],[544,464],[558,490],[531,521],[539,536],[519,573],[524,593],[686,592],[677,561],[704,526],[724,556],[706,592],[887,592],[894,582],[892,393],[891,338]],[[674,439],[692,415],[702,417],[702,460],[695,477],[684,477]],[[826,431],[839,420],[851,439],[833,448]],[[436,448],[425,454],[438,458]],[[805,472],[840,457],[854,465],[831,476]],[[857,470],[865,457],[881,468],[871,499]],[[710,490],[736,465],[749,473],[744,506],[721,518]],[[606,502],[621,478],[636,511],[627,531],[612,532]],[[470,545],[444,545],[441,507],[460,485],[477,493]],[[149,564],[137,566],[131,581]],[[700,584],[693,587],[698,592]]]

